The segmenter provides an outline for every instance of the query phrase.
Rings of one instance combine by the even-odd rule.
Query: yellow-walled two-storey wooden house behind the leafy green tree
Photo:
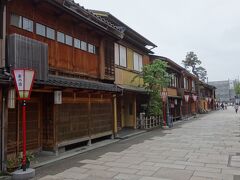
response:
[[[92,12],[124,29],[124,38],[114,44],[115,84],[122,91],[117,96],[117,129],[136,128],[137,116],[144,112],[148,101],[146,90],[141,88],[143,80],[137,76],[142,67],[150,62],[149,54],[152,52],[146,47],[154,48],[156,45],[112,14],[103,11]]]

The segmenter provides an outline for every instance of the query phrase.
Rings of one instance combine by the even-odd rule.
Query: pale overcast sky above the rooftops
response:
[[[209,81],[240,75],[240,0],[75,0],[108,11],[181,64],[194,51]]]

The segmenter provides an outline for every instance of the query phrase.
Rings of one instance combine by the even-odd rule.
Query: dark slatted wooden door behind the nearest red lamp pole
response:
[[[38,97],[33,97],[27,101],[27,151],[41,149],[40,102]],[[9,109],[8,114],[8,154],[18,154],[22,151],[21,103],[17,103],[15,109]]]

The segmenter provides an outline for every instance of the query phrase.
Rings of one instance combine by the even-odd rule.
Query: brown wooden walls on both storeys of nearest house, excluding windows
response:
[[[34,84],[31,100],[27,103],[27,149],[38,152],[57,152],[71,144],[113,134],[113,94],[116,91],[98,90],[95,85],[91,89],[89,84],[94,81],[113,83],[114,41],[119,36],[105,32],[107,28],[101,30],[100,25],[95,27],[97,23],[88,15],[81,19],[61,2],[12,0],[7,4],[7,35],[15,33],[46,43],[49,76],[68,78],[66,81],[70,85],[74,84],[70,78],[88,81],[82,82],[86,83],[86,88],[67,87],[61,80],[58,81],[60,85],[54,80],[50,85]],[[12,25],[13,14],[31,20],[32,31]],[[37,23],[54,30],[54,38],[38,35]],[[59,42],[57,32],[70,36],[72,45]],[[87,49],[76,48],[75,38],[87,43]],[[88,45],[94,46],[94,52],[89,51]],[[54,104],[55,90],[62,91],[62,104]],[[8,154],[18,154],[22,148],[20,102],[17,101],[16,108],[9,109],[8,114]]]

